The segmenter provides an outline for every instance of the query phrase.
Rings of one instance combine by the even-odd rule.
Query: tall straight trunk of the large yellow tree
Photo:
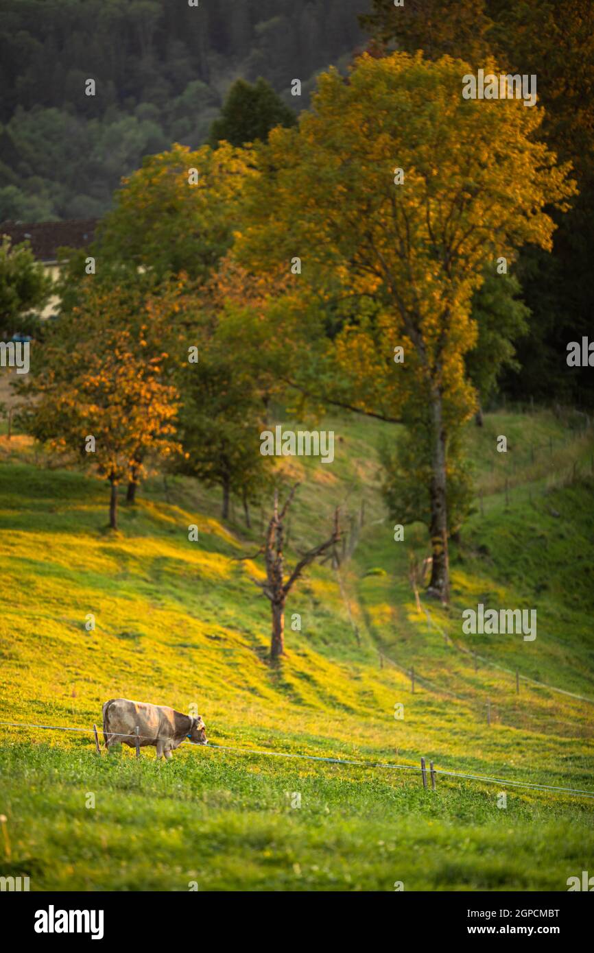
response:
[[[435,393],[432,397],[431,413],[433,416],[432,428],[432,459],[431,485],[429,488],[431,499],[431,549],[433,563],[431,579],[427,593],[439,598],[441,602],[449,600],[450,570],[447,550],[447,503],[445,477],[445,433],[441,417],[441,395]]]

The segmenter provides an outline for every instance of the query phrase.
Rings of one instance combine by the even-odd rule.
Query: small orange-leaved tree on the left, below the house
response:
[[[85,307],[49,329],[22,388],[31,398],[21,415],[24,429],[110,482],[112,529],[119,483],[180,450],[178,395],[163,379],[168,355],[154,349],[147,325],[127,326],[123,297],[119,289],[89,289]]]

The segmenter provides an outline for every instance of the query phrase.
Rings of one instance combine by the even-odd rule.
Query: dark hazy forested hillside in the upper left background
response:
[[[144,155],[206,141],[238,76],[264,76],[303,108],[313,74],[345,65],[361,45],[357,17],[368,6],[0,0],[0,220],[101,215]]]

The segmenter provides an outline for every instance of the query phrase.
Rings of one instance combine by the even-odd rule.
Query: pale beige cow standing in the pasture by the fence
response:
[[[135,729],[138,726],[138,736]],[[206,728],[201,716],[182,715],[167,705],[152,705],[145,701],[111,699],[103,705],[103,740],[109,751],[111,744],[123,741],[135,748],[152,744],[156,757],[172,757],[172,751],[189,738],[195,744],[208,744]]]

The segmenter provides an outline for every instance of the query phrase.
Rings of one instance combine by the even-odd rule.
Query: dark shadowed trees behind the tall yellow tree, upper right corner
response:
[[[503,73],[537,77],[544,117],[535,134],[561,161],[572,163],[579,194],[567,214],[551,213],[558,226],[552,253],[528,245],[516,263],[529,333],[518,340],[514,361],[503,365],[502,387],[517,398],[546,401],[554,390],[564,400],[591,405],[588,369],[569,371],[558,358],[567,341],[589,333],[594,309],[594,5],[406,0],[396,7],[392,0],[373,0],[360,20],[379,51],[396,44],[431,59],[460,56],[475,67],[484,67],[490,52]],[[513,297],[508,306],[515,309]]]

